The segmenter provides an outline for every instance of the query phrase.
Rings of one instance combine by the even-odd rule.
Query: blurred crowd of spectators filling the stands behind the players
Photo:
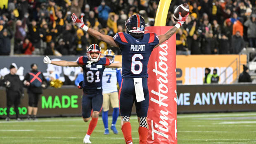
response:
[[[154,26],[159,0],[3,0],[0,2],[0,55],[85,55],[97,43],[102,53],[116,47],[78,29],[71,14],[83,16],[85,24],[114,36],[125,31],[124,21],[133,14]],[[238,54],[256,47],[255,0],[176,0],[171,2],[166,26],[173,26],[172,12],[190,5],[190,16],[176,33],[177,54]]]

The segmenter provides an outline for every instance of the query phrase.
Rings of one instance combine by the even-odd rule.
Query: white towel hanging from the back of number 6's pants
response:
[[[135,87],[135,94],[137,102],[144,101],[144,92],[142,87],[142,78],[133,78],[134,87]]]

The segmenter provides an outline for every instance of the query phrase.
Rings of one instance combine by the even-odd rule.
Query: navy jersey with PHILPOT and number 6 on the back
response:
[[[142,38],[120,32],[114,36],[122,52],[122,78],[148,77],[147,63],[153,48],[159,39],[155,33],[144,34]]]

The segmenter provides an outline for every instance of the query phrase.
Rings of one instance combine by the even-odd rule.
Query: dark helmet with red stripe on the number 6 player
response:
[[[125,23],[126,33],[144,34],[146,23],[141,15],[133,14],[133,16],[129,17],[129,19]]]

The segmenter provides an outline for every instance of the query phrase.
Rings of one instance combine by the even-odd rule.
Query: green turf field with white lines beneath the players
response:
[[[109,127],[111,125],[109,118]],[[83,144],[89,123],[82,118],[38,118],[37,121],[0,120],[0,144]],[[102,118],[92,133],[92,144],[125,144],[119,134],[104,135]],[[138,144],[137,118],[132,116],[133,144]],[[256,113],[201,113],[178,115],[178,144],[256,144]]]

